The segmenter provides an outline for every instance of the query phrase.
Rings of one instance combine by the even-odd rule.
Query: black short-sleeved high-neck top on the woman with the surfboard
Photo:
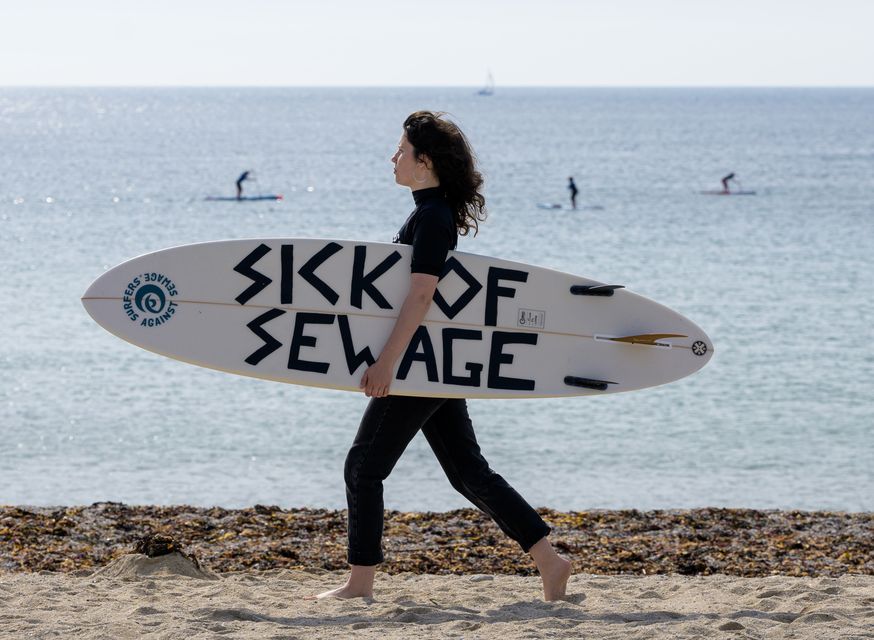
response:
[[[443,274],[446,254],[458,244],[452,209],[440,187],[413,191],[416,208],[394,242],[413,245],[412,273]]]

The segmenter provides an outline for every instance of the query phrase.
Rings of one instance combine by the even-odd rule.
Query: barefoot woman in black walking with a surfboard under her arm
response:
[[[383,561],[382,483],[421,429],[452,486],[489,514],[531,554],[546,600],[565,595],[570,563],[546,536],[549,527],[480,454],[463,399],[390,396],[395,364],[431,305],[437,282],[458,235],[477,230],[485,218],[482,176],[458,127],[443,114],[417,111],[404,122],[392,156],[395,181],[413,192],[416,208],[395,242],[411,244],[410,289],[376,362],[361,379],[371,398],[346,458],[349,564],[346,584],[319,598],[373,596],[376,565]]]

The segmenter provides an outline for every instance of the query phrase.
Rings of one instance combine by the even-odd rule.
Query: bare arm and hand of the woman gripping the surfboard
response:
[[[395,363],[410,344],[416,329],[422,324],[425,314],[431,307],[434,291],[440,278],[428,273],[414,273],[410,278],[410,290],[401,306],[398,319],[392,329],[388,342],[382,348],[379,358],[361,378],[358,385],[364,389],[365,395],[373,398],[387,396],[391,387]]]

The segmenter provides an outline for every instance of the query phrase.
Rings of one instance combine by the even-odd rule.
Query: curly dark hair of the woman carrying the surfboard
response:
[[[416,160],[428,156],[440,188],[455,217],[459,235],[471,229],[476,235],[479,223],[486,219],[486,199],[480,193],[482,174],[476,168],[476,155],[465,135],[446,114],[416,111],[404,121],[404,133],[413,146]]]

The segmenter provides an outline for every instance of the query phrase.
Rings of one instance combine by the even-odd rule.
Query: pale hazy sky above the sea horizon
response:
[[[874,85],[874,0],[0,0],[0,24],[0,85]]]

